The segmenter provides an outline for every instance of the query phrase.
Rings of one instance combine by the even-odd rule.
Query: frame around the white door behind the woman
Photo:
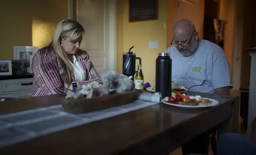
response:
[[[68,18],[75,19],[74,7],[77,0],[68,0]],[[108,71],[116,72],[116,59],[117,59],[117,0],[106,0],[106,37],[105,37],[105,48],[109,54],[109,66],[106,67]]]

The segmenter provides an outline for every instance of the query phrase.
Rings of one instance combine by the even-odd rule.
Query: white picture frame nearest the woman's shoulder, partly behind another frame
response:
[[[30,73],[30,56],[35,55],[38,47],[14,46],[14,60],[24,60],[25,71]]]

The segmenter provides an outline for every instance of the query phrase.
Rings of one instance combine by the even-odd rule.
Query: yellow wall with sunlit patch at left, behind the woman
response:
[[[13,46],[48,45],[56,25],[68,18],[68,0],[7,0],[0,4],[0,59],[13,59]]]

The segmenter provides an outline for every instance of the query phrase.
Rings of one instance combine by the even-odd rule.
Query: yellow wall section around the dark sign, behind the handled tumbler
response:
[[[129,23],[129,0],[117,1],[117,72],[122,73],[122,53],[134,46],[132,52],[142,59],[144,81],[151,85],[155,60],[166,50],[167,0],[159,0],[158,4],[158,20]],[[158,49],[149,49],[150,41],[158,41]]]

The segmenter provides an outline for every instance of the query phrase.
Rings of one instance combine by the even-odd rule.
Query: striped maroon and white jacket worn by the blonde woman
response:
[[[86,72],[86,81],[77,81],[80,85],[86,85],[93,81],[101,83],[99,74],[93,67],[86,51],[79,50],[76,57]],[[60,57],[52,51],[50,46],[37,51],[33,58],[34,82],[28,96],[44,96],[58,93],[66,93],[64,87],[67,83],[65,65]],[[71,80],[74,81],[74,72],[71,73]]]

